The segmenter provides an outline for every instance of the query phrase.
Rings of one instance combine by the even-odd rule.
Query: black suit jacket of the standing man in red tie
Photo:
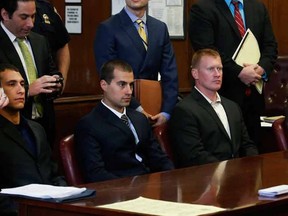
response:
[[[277,43],[269,14],[259,0],[244,0],[244,13],[246,29],[251,29],[259,43],[261,58],[258,64],[269,76],[277,58]],[[198,0],[193,4],[190,11],[189,36],[194,50],[216,48],[220,52],[224,74],[219,92],[242,106],[246,85],[238,78],[242,67],[232,60],[241,36],[226,2]],[[262,111],[263,94],[258,94],[253,87],[251,96],[254,108]]]

